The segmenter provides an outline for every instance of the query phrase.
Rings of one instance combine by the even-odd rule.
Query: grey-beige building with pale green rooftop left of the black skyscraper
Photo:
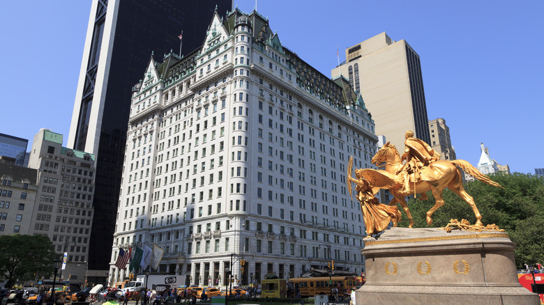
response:
[[[62,146],[63,135],[42,128],[34,136],[29,167],[38,170],[30,235],[50,237],[67,253],[61,281],[84,283],[93,222],[95,156]]]

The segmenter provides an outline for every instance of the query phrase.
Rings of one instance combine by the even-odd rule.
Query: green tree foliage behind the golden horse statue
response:
[[[497,224],[504,229],[513,242],[517,242],[515,261],[520,268],[524,263],[543,263],[544,248],[544,183],[534,175],[513,173],[492,175],[504,189],[492,187],[480,181],[467,182],[464,189],[474,198],[482,215],[484,226]],[[428,192],[428,200],[411,199],[408,203],[415,226],[427,227],[425,214],[435,205],[435,198]],[[433,215],[432,227],[444,227],[450,219],[467,219],[471,224],[476,217],[470,206],[449,189],[444,190],[446,202]],[[400,209],[402,210],[402,209]],[[408,226],[402,215],[399,226]]]

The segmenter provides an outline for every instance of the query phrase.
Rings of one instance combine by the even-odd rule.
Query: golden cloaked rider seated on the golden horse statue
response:
[[[414,138],[414,132],[408,130],[405,134],[405,153],[400,158],[406,163],[397,171],[405,179],[402,191],[409,191],[409,182],[420,180],[436,180],[435,174],[429,169],[429,164],[438,161],[440,154],[433,150],[428,143]]]

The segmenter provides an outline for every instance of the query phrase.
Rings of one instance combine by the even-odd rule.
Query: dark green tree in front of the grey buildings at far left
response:
[[[0,244],[0,277],[8,280],[6,287],[13,286],[15,280],[52,276],[53,260],[60,258],[47,236],[2,235]]]

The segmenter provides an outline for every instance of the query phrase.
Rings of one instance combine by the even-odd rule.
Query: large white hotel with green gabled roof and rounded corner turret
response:
[[[267,19],[216,12],[201,49],[151,56],[133,88],[110,283],[128,278],[119,248],[143,244],[186,285],[226,285],[229,269],[241,285],[300,276],[331,259],[362,272],[346,166],[372,166],[374,125],[347,79],[283,47]]]

